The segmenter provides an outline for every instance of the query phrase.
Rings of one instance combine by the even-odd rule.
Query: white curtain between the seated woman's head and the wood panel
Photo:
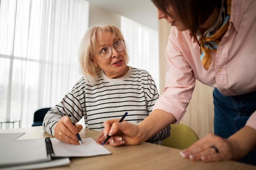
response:
[[[128,65],[148,71],[159,92],[159,40],[158,31],[121,17],[121,31],[128,45]]]

